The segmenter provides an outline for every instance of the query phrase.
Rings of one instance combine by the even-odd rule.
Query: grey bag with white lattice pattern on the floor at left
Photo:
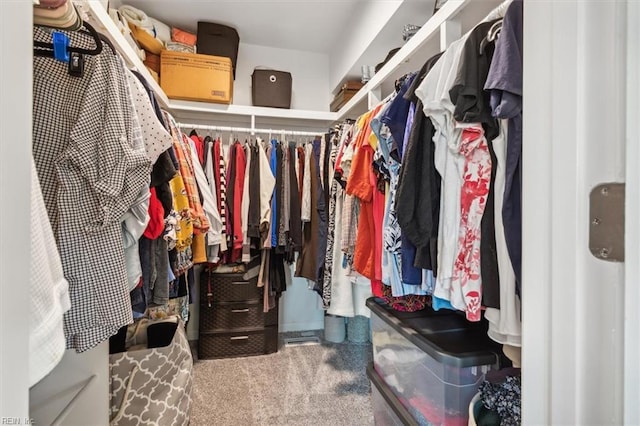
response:
[[[152,324],[136,328],[136,343]],[[109,355],[109,367],[111,426],[189,424],[193,358],[182,320],[169,345]]]

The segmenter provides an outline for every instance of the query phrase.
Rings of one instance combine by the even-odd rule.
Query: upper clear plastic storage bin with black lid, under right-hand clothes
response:
[[[375,298],[371,309],[373,362],[385,384],[418,424],[462,426],[484,375],[498,367],[501,346],[486,323],[455,312],[395,312]]]

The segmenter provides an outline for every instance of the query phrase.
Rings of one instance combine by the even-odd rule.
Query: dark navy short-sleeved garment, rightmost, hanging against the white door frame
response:
[[[502,221],[518,294],[522,265],[522,20],[522,0],[514,0],[505,13],[484,86],[491,92],[493,115],[509,119]]]

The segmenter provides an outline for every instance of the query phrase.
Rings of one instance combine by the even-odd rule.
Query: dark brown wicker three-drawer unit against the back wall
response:
[[[200,277],[199,358],[277,351],[278,309],[263,312],[263,289],[257,287],[257,278],[205,270]]]

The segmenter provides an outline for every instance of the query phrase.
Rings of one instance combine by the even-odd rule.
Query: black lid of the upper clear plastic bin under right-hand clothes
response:
[[[487,335],[488,322],[470,322],[460,313],[430,308],[406,315],[381,299],[367,299],[371,312],[441,364],[457,368],[498,363],[502,345]]]

